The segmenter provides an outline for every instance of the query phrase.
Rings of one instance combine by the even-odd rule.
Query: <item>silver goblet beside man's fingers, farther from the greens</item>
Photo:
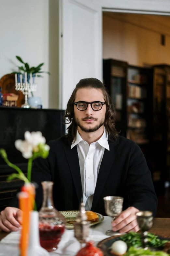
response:
[[[112,222],[120,215],[123,207],[123,197],[120,196],[106,196],[103,198],[105,202],[105,212],[108,216],[112,217]],[[112,229],[106,231],[106,235],[120,235]]]

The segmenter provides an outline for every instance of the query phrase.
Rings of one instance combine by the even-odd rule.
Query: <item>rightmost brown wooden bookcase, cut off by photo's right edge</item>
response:
[[[153,67],[153,180],[164,192],[170,180],[170,66]]]

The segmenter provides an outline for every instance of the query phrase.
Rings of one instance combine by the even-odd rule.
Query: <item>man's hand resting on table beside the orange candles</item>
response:
[[[0,214],[0,231],[18,231],[22,223],[22,211],[15,207],[6,207]]]

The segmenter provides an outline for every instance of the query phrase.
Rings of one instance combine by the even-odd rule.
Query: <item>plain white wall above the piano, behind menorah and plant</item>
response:
[[[16,55],[49,71],[49,0],[0,0],[0,77],[16,70]],[[38,79],[35,96],[49,106],[49,77]]]

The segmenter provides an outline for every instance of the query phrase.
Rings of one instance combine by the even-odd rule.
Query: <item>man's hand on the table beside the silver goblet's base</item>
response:
[[[139,212],[135,207],[129,207],[112,222],[113,231],[120,233],[137,232],[139,227],[137,225],[136,213]]]

